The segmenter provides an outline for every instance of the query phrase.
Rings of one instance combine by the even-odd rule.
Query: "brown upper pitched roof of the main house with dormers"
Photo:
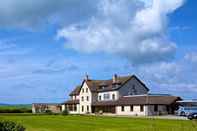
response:
[[[139,80],[135,75],[132,76],[118,76],[116,83],[113,83],[112,79],[109,80],[84,80],[82,82],[82,85],[86,82],[86,84],[88,85],[88,87],[90,88],[90,90],[92,92],[104,92],[104,91],[113,91],[113,90],[118,90],[119,88],[121,88],[124,84],[127,83],[127,81],[129,81],[130,79],[136,79],[140,84],[142,84],[147,91],[149,91],[149,89],[146,87],[146,85]],[[104,87],[104,88],[102,88]],[[72,95],[79,95],[80,93],[80,89],[81,86],[77,86],[71,93],[70,96]]]

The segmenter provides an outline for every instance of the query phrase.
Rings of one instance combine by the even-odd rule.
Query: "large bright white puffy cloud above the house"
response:
[[[167,16],[183,0],[102,0],[98,13],[85,24],[74,23],[59,30],[66,47],[94,53],[106,52],[128,58],[133,64],[171,60],[176,44],[166,33]]]

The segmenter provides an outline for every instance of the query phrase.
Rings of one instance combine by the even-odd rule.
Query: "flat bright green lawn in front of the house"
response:
[[[196,121],[61,115],[1,115],[27,131],[197,131]]]

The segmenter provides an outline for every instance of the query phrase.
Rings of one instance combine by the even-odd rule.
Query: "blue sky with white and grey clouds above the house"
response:
[[[63,102],[88,74],[197,99],[197,1],[0,3],[0,103]]]

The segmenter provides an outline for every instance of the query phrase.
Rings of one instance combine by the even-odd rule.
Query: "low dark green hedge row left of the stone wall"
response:
[[[21,108],[21,109],[0,109],[0,113],[32,113],[31,109]]]

